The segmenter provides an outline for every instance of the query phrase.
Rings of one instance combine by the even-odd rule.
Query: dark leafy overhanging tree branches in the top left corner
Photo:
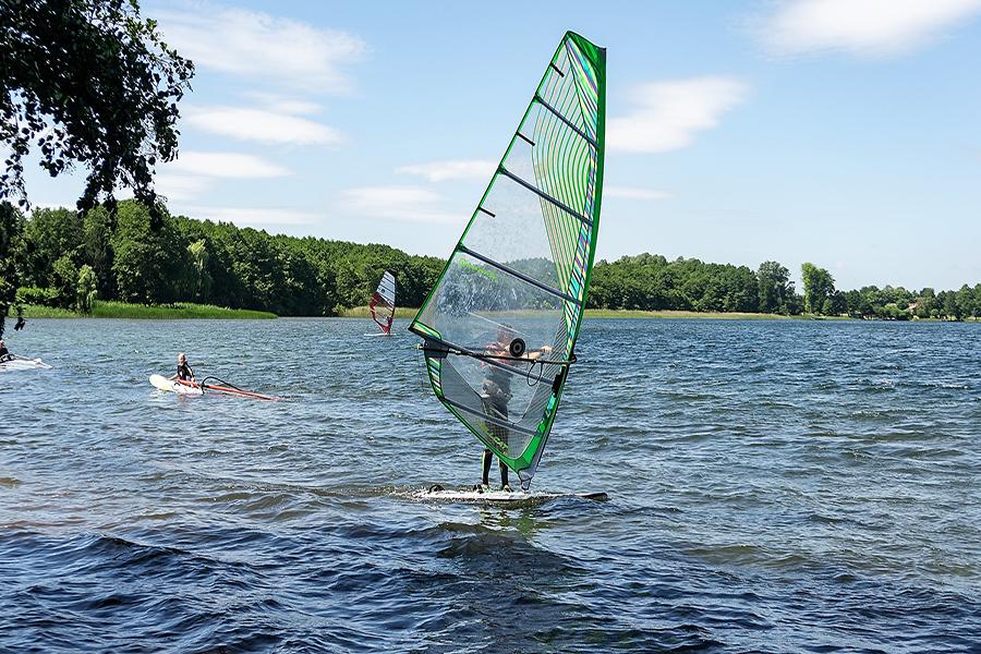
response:
[[[87,169],[80,209],[133,189],[153,206],[154,169],[177,155],[177,102],[193,64],[167,47],[136,0],[0,2],[0,142],[10,150],[0,198],[27,204],[32,145],[52,177]]]

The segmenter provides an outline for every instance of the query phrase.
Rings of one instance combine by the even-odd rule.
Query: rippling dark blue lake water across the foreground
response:
[[[981,327],[590,320],[534,487],[365,320],[33,320],[0,651],[981,650]],[[154,390],[198,374],[289,396]]]

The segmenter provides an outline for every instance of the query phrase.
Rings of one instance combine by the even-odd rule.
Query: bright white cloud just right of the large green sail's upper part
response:
[[[630,153],[664,153],[688,146],[739,105],[747,86],[730,77],[695,77],[637,86],[637,108],[609,121],[607,145]]]

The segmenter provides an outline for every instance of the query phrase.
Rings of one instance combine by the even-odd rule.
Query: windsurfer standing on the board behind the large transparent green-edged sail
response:
[[[500,325],[497,329],[496,340],[484,348],[484,354],[487,356],[511,359],[513,356],[511,354],[511,342],[514,340],[514,337],[516,334],[513,329],[507,325]],[[520,359],[535,361],[536,359],[540,359],[542,354],[548,354],[550,352],[550,347],[543,346],[533,352],[523,352]],[[484,411],[487,412],[488,416],[507,421],[508,402],[511,401],[511,377],[513,376],[513,373],[487,362],[482,362],[481,365],[487,368],[484,376],[484,384],[481,388],[481,401],[484,404]],[[487,431],[491,432],[491,435],[496,440],[507,445],[509,432],[507,427],[502,427],[491,421],[486,421],[485,424]],[[481,491],[486,491],[491,486],[491,463],[493,460],[494,452],[489,448],[485,449],[484,455],[481,458],[483,472],[481,476]],[[500,489],[510,493],[511,485],[508,483],[508,467],[500,460],[500,457],[497,458],[497,464],[500,468]]]

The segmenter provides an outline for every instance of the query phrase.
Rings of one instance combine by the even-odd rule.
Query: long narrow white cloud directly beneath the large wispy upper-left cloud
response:
[[[186,107],[189,124],[223,136],[259,143],[330,145],[341,141],[337,130],[318,122],[245,107]]]

